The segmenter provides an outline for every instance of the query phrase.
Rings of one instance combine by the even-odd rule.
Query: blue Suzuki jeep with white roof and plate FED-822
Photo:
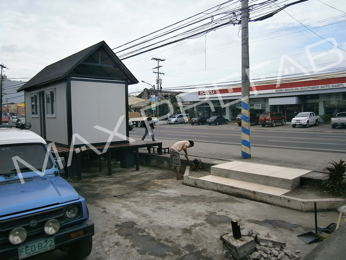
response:
[[[0,259],[59,249],[64,259],[81,260],[91,253],[94,223],[84,198],[59,175],[64,159],[54,159],[30,126],[0,127]]]

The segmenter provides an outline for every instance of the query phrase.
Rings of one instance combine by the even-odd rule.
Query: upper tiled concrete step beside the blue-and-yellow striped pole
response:
[[[300,176],[311,171],[265,164],[233,161],[210,167],[211,175],[247,183],[292,190],[300,186]],[[267,187],[270,187],[267,186]]]

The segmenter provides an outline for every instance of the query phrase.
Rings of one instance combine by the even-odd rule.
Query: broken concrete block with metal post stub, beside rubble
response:
[[[235,239],[232,234],[226,234],[221,237],[221,240],[224,249],[236,259],[242,259],[256,250],[256,242],[251,236],[243,236],[240,239]]]

